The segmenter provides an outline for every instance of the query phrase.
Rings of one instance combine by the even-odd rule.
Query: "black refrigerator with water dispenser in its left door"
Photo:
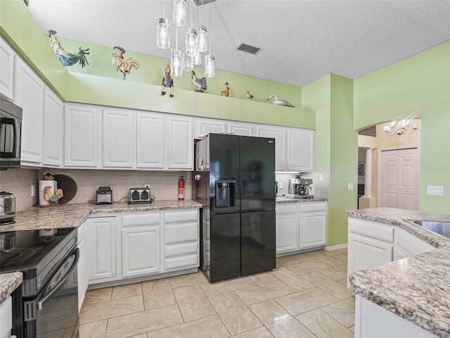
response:
[[[192,192],[210,282],[276,267],[275,139],[207,134],[195,145]]]

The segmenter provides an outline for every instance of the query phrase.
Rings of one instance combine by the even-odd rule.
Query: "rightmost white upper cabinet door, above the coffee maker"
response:
[[[288,130],[288,171],[314,170],[314,130]]]

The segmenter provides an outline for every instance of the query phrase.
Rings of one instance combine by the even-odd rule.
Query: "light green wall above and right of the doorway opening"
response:
[[[450,42],[354,80],[354,128],[421,118],[420,211],[450,213]],[[427,194],[428,185],[444,196]]]

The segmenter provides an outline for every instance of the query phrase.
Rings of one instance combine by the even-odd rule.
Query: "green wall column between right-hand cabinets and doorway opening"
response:
[[[303,108],[316,111],[314,170],[329,173],[327,245],[347,243],[346,210],[356,209],[358,138],[353,81],[329,74],[302,87]],[[354,185],[353,190],[347,184]]]

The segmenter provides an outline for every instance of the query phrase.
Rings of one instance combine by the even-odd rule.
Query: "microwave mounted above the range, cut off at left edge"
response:
[[[22,108],[0,97],[0,170],[20,167]]]

